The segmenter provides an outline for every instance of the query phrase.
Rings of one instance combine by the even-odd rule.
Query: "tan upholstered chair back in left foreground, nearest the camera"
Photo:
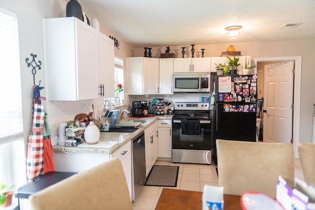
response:
[[[118,158],[57,182],[29,199],[33,210],[132,210]]]

